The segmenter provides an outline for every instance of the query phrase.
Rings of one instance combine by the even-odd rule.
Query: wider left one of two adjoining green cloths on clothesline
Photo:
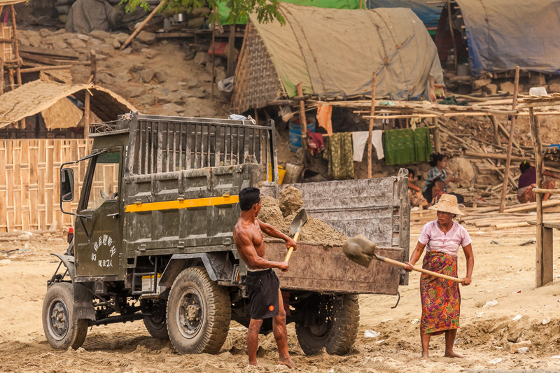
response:
[[[385,164],[414,163],[414,131],[412,129],[386,129],[384,134]]]

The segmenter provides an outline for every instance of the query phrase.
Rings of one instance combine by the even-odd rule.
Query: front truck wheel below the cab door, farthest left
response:
[[[50,286],[43,301],[43,330],[53,349],[78,349],[87,335],[87,320],[73,320],[74,287],[60,282]]]

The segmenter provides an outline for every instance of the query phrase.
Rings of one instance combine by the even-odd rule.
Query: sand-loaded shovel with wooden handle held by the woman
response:
[[[384,256],[377,255],[375,253],[376,248],[383,248],[374,244],[374,242],[358,234],[356,237],[348,239],[342,245],[342,251],[349,260],[358,263],[358,265],[363,265],[364,267],[370,267],[370,262],[373,259],[381,260],[386,263],[391,263],[392,265],[398,265],[399,267],[407,267],[405,263],[398,262],[397,260],[385,258]],[[447,276],[445,274],[439,274],[437,272],[428,271],[428,269],[413,267],[414,271],[421,272],[423,274],[429,274],[430,276],[439,277],[440,279],[446,279],[455,282],[461,282],[460,279],[456,277]]]

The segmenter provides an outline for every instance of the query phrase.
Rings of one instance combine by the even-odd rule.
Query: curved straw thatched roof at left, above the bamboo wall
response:
[[[92,93],[91,111],[101,120],[116,120],[119,114],[137,110],[123,97],[98,85],[69,85],[34,80],[0,96],[0,128],[18,122],[18,120],[30,115],[46,111],[55,104],[58,107],[57,111],[64,107],[74,111],[73,108],[60,104],[59,101],[67,100],[66,97],[73,95],[84,102],[86,90]],[[65,117],[64,115],[57,115],[57,118]],[[58,126],[54,126],[54,128],[64,127],[69,127],[68,123],[60,122]]]

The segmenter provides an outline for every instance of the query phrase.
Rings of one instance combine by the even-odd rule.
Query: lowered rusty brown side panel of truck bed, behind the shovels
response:
[[[402,248],[379,249],[378,253],[402,260]],[[286,244],[267,240],[266,255],[269,260],[282,262]],[[396,295],[400,268],[380,260],[362,267],[346,258],[342,246],[298,242],[288,272],[276,269],[276,274],[282,290]]]

